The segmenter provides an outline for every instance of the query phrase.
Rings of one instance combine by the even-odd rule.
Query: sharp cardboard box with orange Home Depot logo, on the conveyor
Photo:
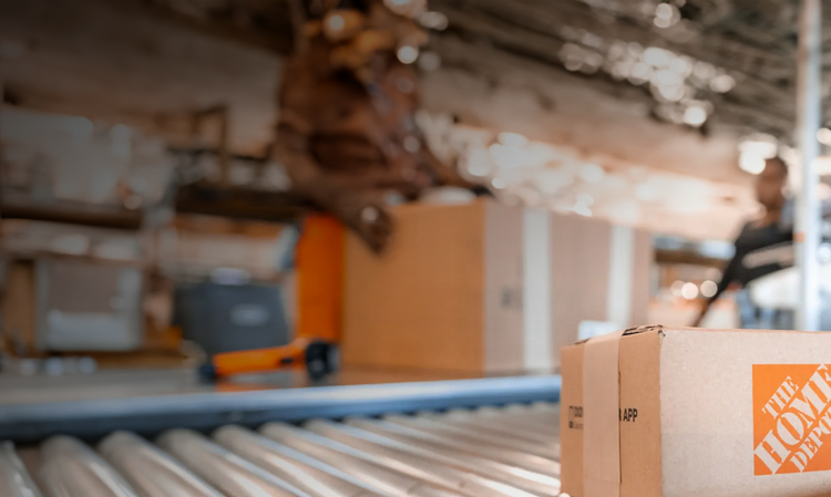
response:
[[[831,334],[648,327],[562,358],[564,493],[831,495]]]

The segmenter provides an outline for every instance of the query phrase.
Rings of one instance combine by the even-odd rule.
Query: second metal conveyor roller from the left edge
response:
[[[55,436],[41,445],[40,480],[49,497],[138,497],[95,452],[76,438]]]

